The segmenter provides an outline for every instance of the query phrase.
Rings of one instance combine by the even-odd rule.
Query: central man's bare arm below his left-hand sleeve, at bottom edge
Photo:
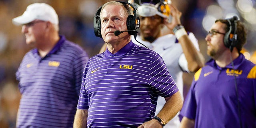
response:
[[[88,110],[76,110],[73,128],[87,128]]]

